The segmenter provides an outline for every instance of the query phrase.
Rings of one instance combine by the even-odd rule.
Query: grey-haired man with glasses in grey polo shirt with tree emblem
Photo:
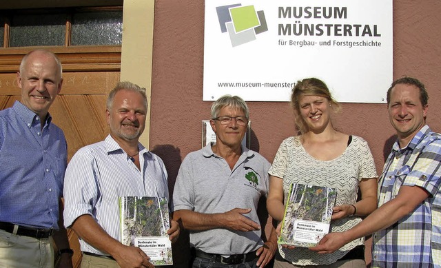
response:
[[[248,118],[243,99],[220,97],[212,105],[210,121],[216,143],[188,154],[179,170],[174,219],[190,230],[193,267],[265,267],[276,252],[274,229],[268,240],[262,238],[267,217],[263,224],[258,218],[270,164],[241,146]],[[266,210],[262,204],[259,209]]]

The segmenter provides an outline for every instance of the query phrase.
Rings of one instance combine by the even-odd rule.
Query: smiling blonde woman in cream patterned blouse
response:
[[[283,141],[269,169],[268,212],[279,222],[283,219],[284,200],[291,183],[333,187],[337,198],[330,231],[350,229],[377,207],[377,173],[369,146],[363,138],[333,127],[331,117],[340,105],[323,81],[298,81],[291,93],[291,104],[300,135]],[[361,198],[357,202],[358,189]],[[274,267],[365,268],[364,242],[362,238],[353,240],[332,254],[279,246]]]

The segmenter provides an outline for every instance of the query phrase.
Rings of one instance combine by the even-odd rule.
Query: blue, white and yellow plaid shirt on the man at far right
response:
[[[393,150],[380,177],[378,206],[401,185],[422,187],[429,198],[387,229],[373,234],[373,267],[441,267],[441,134],[422,127],[409,145]]]

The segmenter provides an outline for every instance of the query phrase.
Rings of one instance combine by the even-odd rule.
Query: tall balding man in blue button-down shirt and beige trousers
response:
[[[0,267],[53,267],[51,238],[72,267],[59,214],[67,144],[48,113],[63,83],[59,59],[29,52],[17,83],[21,101],[0,111]]]

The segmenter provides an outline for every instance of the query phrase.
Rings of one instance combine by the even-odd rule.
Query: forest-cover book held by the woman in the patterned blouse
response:
[[[329,232],[336,189],[291,184],[278,244],[314,247]]]

